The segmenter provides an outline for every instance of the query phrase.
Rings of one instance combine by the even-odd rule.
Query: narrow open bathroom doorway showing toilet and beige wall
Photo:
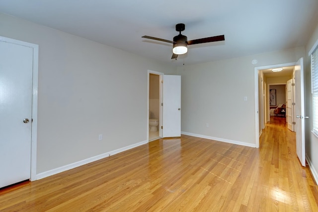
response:
[[[148,141],[162,137],[162,76],[148,70]]]

